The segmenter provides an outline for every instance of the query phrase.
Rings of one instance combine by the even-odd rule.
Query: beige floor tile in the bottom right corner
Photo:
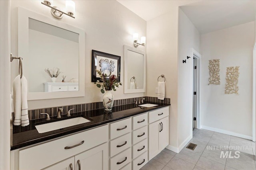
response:
[[[230,166],[231,168],[236,168],[238,170],[255,170],[255,164],[248,164],[236,158],[228,158],[226,162],[226,166]]]

